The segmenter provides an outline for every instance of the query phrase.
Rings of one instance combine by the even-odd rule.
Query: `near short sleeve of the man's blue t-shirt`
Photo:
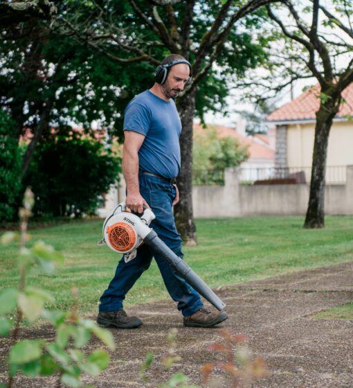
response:
[[[152,116],[144,105],[131,101],[127,105],[124,114],[124,130],[134,131],[141,134],[147,135],[150,129]]]

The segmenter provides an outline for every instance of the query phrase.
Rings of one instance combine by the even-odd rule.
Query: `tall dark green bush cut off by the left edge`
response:
[[[21,191],[21,155],[17,139],[12,137],[15,123],[0,109],[0,220],[13,221]]]

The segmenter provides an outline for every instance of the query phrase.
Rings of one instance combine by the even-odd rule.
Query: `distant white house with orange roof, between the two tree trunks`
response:
[[[257,179],[269,177],[275,166],[275,127],[268,134],[246,136],[245,125],[242,121],[236,128],[224,125],[208,125],[214,127],[219,137],[233,137],[240,145],[246,146],[249,158],[241,164],[240,179],[244,182],[253,182]],[[194,132],[205,132],[207,128],[194,124]]]

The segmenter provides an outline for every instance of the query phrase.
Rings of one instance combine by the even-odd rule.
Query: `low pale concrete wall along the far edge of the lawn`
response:
[[[194,217],[235,215],[305,215],[308,184],[239,184],[239,171],[226,169],[225,186],[196,186],[192,191]],[[325,213],[353,215],[353,166],[347,166],[347,182],[327,185]]]

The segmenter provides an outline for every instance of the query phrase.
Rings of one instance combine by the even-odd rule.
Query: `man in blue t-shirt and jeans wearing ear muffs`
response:
[[[135,96],[125,109],[123,174],[126,205],[136,213],[148,206],[156,215],[151,227],[179,257],[181,237],[175,227],[172,206],[179,201],[175,177],[180,170],[181,121],[174,98],[190,77],[190,63],[181,55],[169,55],[157,67],[154,86]],[[166,261],[141,245],[136,258],[118,263],[114,279],[100,298],[97,322],[102,326],[136,328],[143,323],[123,310],[125,294],[150,267],[154,256],[165,287],[183,314],[184,326],[212,327],[228,318],[226,312],[203,308],[199,294]]]

